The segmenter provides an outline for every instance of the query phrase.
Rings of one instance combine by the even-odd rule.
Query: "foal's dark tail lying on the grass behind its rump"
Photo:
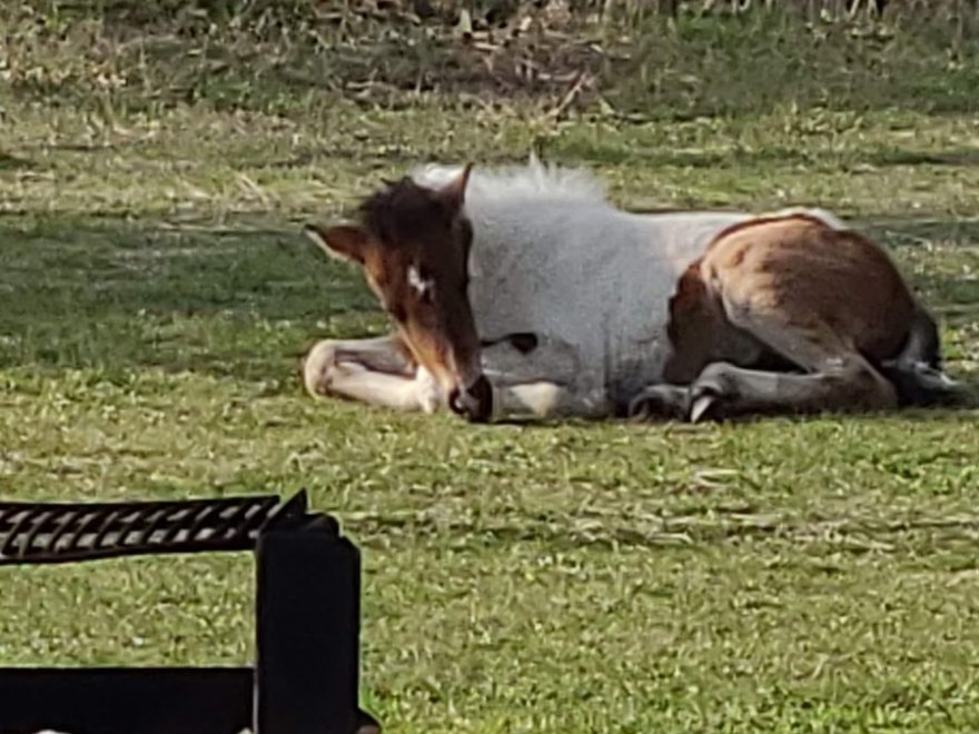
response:
[[[893,359],[879,366],[894,386],[898,403],[914,407],[962,407],[977,404],[967,385],[942,370],[941,338],[938,325],[920,306],[914,309],[904,348]]]

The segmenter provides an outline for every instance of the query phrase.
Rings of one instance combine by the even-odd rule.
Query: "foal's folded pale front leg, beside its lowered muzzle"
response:
[[[319,341],[303,359],[303,380],[314,397],[399,410],[434,413],[443,401],[432,377],[408,359],[395,335]]]

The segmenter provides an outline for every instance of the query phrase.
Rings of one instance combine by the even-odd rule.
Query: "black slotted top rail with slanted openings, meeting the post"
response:
[[[136,503],[0,503],[0,566],[156,553],[250,550],[273,522],[305,516],[306,493]]]

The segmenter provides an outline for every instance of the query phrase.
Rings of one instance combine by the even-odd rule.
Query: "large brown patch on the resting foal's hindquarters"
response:
[[[741,222],[678,281],[664,378],[690,384],[718,361],[777,371],[797,359],[804,371],[834,359],[879,365],[908,341],[916,309],[887,252],[857,232],[807,215]]]

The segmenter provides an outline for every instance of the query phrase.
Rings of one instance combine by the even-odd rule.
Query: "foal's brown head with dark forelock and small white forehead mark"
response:
[[[327,252],[357,262],[372,290],[453,410],[485,420],[493,409],[479,366],[479,338],[468,294],[473,230],[463,212],[471,167],[442,189],[409,178],[360,205],[356,226],[307,226]]]

